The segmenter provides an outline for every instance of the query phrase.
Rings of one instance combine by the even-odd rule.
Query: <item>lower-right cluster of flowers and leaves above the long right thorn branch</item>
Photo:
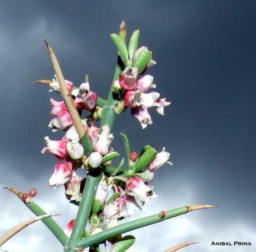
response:
[[[90,234],[114,227],[119,220],[142,209],[148,200],[157,197],[149,182],[156,169],[166,163],[172,165],[168,162],[169,158],[170,153],[165,148],[157,153],[151,146],[145,146],[140,155],[136,152],[130,153],[128,170],[112,167],[112,162],[106,162],[103,169],[105,175],[97,188],[93,215],[90,218]],[[69,230],[67,235],[73,226],[74,220],[65,228]]]

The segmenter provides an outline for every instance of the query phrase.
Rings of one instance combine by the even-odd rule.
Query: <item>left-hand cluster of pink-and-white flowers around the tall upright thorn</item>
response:
[[[44,81],[46,83],[46,81]],[[82,83],[80,87],[75,87],[69,80],[65,80],[68,92],[74,99],[76,109],[81,114],[83,110],[93,113],[96,108],[97,94],[90,91],[88,82]],[[49,83],[50,90],[60,92],[60,84],[58,80],[53,79]],[[58,160],[65,160],[65,162],[58,162],[55,165],[53,174],[50,176],[49,184],[57,188],[60,185],[65,186],[65,193],[70,201],[79,201],[81,196],[81,183],[83,179],[77,176],[75,170],[78,167],[97,168],[102,164],[102,158],[109,153],[109,146],[114,139],[110,134],[109,127],[105,126],[100,132],[93,120],[82,120],[84,130],[93,145],[93,153],[89,157],[84,155],[84,148],[79,143],[79,134],[74,127],[72,116],[67,109],[64,101],[57,102],[55,99],[50,99],[52,109],[50,114],[55,116],[48,127],[53,128],[53,132],[64,130],[65,135],[61,140],[53,141],[49,137],[45,137],[46,147],[41,150],[41,153],[52,153]]]

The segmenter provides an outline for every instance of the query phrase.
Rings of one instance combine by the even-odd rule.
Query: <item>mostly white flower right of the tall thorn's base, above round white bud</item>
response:
[[[101,155],[107,155],[109,152],[109,146],[112,143],[114,136],[110,133],[110,128],[108,125],[102,127],[102,132],[100,133],[99,139],[94,146],[95,151],[99,152]]]

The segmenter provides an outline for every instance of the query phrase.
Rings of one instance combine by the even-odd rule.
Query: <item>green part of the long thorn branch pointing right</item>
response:
[[[166,211],[166,216],[164,216],[163,218],[161,218],[159,214],[154,214],[144,218],[139,218],[135,221],[128,221],[127,223],[117,225],[114,228],[109,228],[96,235],[92,235],[87,239],[78,241],[75,246],[76,248],[87,248],[88,246],[92,246],[93,244],[99,244],[100,242],[110,239],[112,237],[115,237],[116,235],[121,235],[125,232],[129,232],[137,228],[142,228],[147,225],[159,223],[161,221],[166,221],[169,218],[180,216],[181,214],[186,214],[187,211],[188,211],[188,207],[180,207],[177,209]]]

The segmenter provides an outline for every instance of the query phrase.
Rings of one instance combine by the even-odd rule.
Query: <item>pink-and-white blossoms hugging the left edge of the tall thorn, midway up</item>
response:
[[[53,108],[51,109],[50,114],[55,116],[55,118],[50,120],[48,127],[65,130],[67,127],[69,127],[69,125],[72,125],[72,117],[69,114],[65,102],[57,102],[54,99],[50,99],[50,102],[53,104]]]

